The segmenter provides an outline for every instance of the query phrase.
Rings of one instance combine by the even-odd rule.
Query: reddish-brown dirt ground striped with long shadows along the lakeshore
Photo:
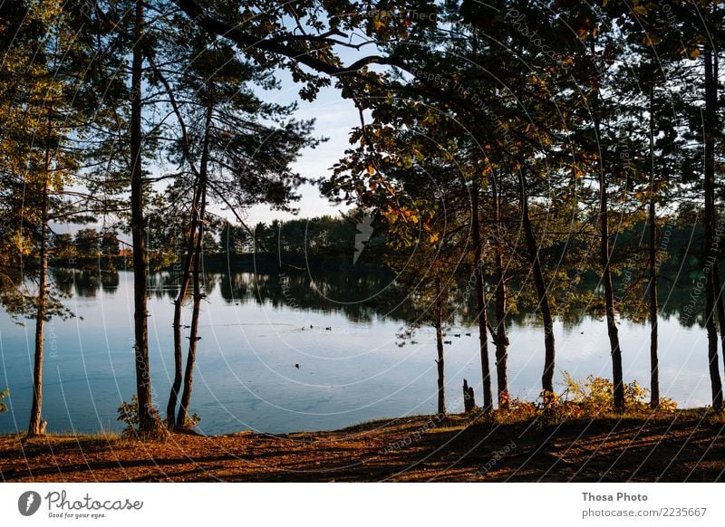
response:
[[[6,482],[715,482],[721,417],[703,410],[546,425],[465,417],[376,421],[332,432],[0,437]]]

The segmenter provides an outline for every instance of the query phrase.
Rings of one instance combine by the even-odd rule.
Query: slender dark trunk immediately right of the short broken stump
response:
[[[488,359],[488,310],[486,307],[486,291],[483,283],[483,260],[481,259],[481,227],[478,219],[478,198],[480,187],[474,181],[471,190],[471,223],[473,231],[473,276],[476,288],[476,304],[478,307],[478,348],[481,355],[481,374],[483,379],[483,411],[493,408],[493,394],[491,392],[491,367]],[[441,342],[442,347],[442,342]]]

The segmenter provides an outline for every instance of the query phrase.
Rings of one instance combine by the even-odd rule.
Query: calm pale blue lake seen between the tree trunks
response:
[[[88,273],[66,271],[56,280],[69,293],[64,302],[76,316],[46,324],[43,417],[48,430],[120,430],[117,408],[135,391],[132,275],[121,271],[99,281]],[[353,280],[335,287],[304,274],[285,283],[280,286],[275,274],[207,274],[190,407],[201,418],[199,432],[333,429],[436,412],[432,328],[420,328],[414,343],[401,345],[401,319],[363,303],[370,284],[356,286]],[[175,292],[168,274],[151,276],[153,401],[164,412],[173,376]],[[1,432],[23,431],[30,413],[34,321],[23,321],[24,326],[16,322],[0,313],[0,388],[7,386],[11,392],[9,411],[0,414]],[[459,331],[460,338],[451,336]],[[533,314],[524,313],[508,331],[512,397],[534,399],[544,355],[540,325]],[[559,321],[555,333],[558,387],[563,371],[575,379],[589,374],[611,378],[604,321],[589,316],[576,324]],[[637,379],[647,386],[648,326],[621,321],[620,338],[625,381]],[[461,412],[464,378],[481,402],[477,332],[457,323],[447,339],[452,340],[446,346],[448,410]],[[672,311],[662,317],[662,397],[674,398],[681,407],[710,403],[706,344],[700,325],[684,327]],[[492,346],[490,355],[493,364]]]

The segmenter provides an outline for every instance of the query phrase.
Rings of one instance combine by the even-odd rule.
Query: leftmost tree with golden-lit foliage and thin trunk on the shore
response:
[[[70,314],[53,294],[48,277],[50,222],[74,214],[73,207],[63,201],[63,187],[82,159],[82,148],[71,143],[82,135],[87,101],[85,93],[75,89],[75,82],[79,70],[87,67],[89,53],[86,42],[77,38],[78,18],[66,7],[60,2],[19,2],[0,23],[4,32],[14,28],[12,38],[4,40],[0,91],[2,104],[9,106],[0,111],[8,125],[0,140],[7,156],[3,165],[6,197],[21,192],[20,206],[14,213],[17,222],[11,227],[21,278],[15,287],[22,291],[26,276],[36,280],[35,294],[20,292],[21,302],[8,306],[10,311],[26,316],[32,311],[30,316],[35,320],[29,436],[42,435],[45,428],[44,322],[55,314]],[[13,202],[10,197],[5,205]]]

